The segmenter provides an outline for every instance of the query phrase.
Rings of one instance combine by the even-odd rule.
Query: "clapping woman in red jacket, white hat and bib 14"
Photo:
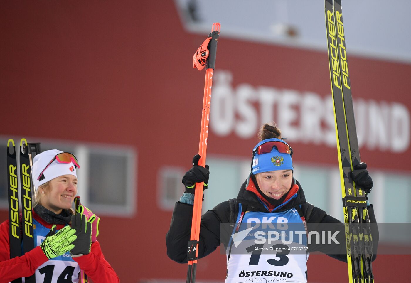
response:
[[[35,248],[10,259],[9,221],[1,223],[0,283],[33,274],[36,282],[42,283],[83,282],[84,274],[96,283],[120,281],[96,240],[99,218],[76,198],[79,167],[73,154],[60,150],[47,150],[35,156]],[[77,214],[72,209],[73,201]]]

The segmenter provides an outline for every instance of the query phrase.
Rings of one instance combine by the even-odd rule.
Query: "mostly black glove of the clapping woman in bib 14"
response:
[[[73,242],[74,248],[70,253],[76,256],[87,255],[91,250],[91,223],[87,222],[85,215],[77,213],[72,215],[72,229],[76,231],[76,240]]]

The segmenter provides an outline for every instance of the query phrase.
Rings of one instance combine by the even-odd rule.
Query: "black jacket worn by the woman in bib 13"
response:
[[[304,191],[301,185],[296,181],[298,185],[298,191],[296,196],[289,200],[289,202],[283,207],[279,208],[275,212],[282,212],[289,210],[293,207],[299,207],[301,205],[301,212],[305,216],[307,222],[313,223],[340,223],[334,217],[327,215],[325,211],[311,205],[305,200]],[[242,204],[243,211],[256,211],[256,212],[270,212],[268,209],[259,202],[258,197],[252,191],[255,189],[254,182],[249,177],[241,186],[238,197],[221,202],[212,210],[208,210],[201,216],[200,225],[200,237],[199,237],[199,258],[203,258],[206,255],[215,251],[220,243],[224,244],[227,248],[229,239],[231,237],[231,230],[226,229],[220,231],[220,223],[235,223],[238,216],[238,203]],[[376,222],[374,216],[374,209],[372,205],[368,207],[370,222]],[[191,232],[193,215],[193,206],[181,202],[176,202],[173,210],[173,216],[171,218],[170,230],[166,234],[166,246],[167,255],[172,260],[179,263],[187,262],[187,244]],[[223,227],[227,227],[224,225]],[[225,228],[223,228],[225,229]],[[220,237],[221,235],[221,237]],[[373,244],[374,244],[374,258],[376,257],[376,244],[378,244],[379,234],[378,230],[372,230]],[[339,233],[337,240],[342,243],[345,242],[344,233]],[[309,251],[321,251],[321,246],[318,248],[312,247]],[[343,255],[330,255],[333,258],[337,258],[341,261],[347,261],[347,256]]]

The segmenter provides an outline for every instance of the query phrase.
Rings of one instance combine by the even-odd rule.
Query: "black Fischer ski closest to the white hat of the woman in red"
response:
[[[22,210],[22,234],[23,251],[27,253],[34,248],[33,237],[33,214],[32,214],[32,178],[29,147],[27,140],[20,141],[20,184],[21,184],[21,210]],[[33,274],[25,278],[26,283],[35,283],[36,276]]]

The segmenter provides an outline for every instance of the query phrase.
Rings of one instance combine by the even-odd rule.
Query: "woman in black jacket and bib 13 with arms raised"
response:
[[[330,253],[329,246],[307,244],[307,233],[305,233],[307,228],[304,233],[298,233],[301,235],[299,241],[296,236],[294,240],[290,238],[291,236],[287,234],[290,231],[282,234],[282,237],[272,238],[272,235],[278,235],[280,232],[273,234],[277,232],[268,230],[275,229],[263,229],[263,231],[261,229],[285,224],[287,229],[292,230],[291,234],[293,232],[296,234],[293,230],[298,225],[304,227],[306,222],[309,224],[340,222],[305,200],[300,183],[293,177],[292,149],[282,140],[281,131],[275,126],[265,124],[259,137],[261,141],[253,149],[252,172],[242,184],[238,197],[220,203],[201,217],[198,255],[202,258],[223,243],[227,251],[226,282],[247,280],[254,282],[263,279],[307,282],[308,252]],[[194,156],[194,166],[183,177],[185,193],[175,204],[170,230],[166,235],[167,255],[179,263],[187,262],[187,243],[192,223],[195,183],[204,182],[205,186],[208,184],[208,166],[206,168],[198,166],[199,158],[199,155]],[[362,185],[365,193],[369,193],[373,183],[368,175],[366,164],[360,163],[354,169],[351,174],[354,182]],[[367,205],[370,222],[376,222],[373,206],[368,203]],[[220,225],[221,223],[223,224]],[[256,228],[259,228],[258,231]],[[342,244],[342,249],[339,251],[343,253],[346,251],[343,225],[329,228],[321,226],[317,229],[339,230],[340,233],[338,231],[335,233],[335,240]],[[235,237],[236,234],[239,237]],[[378,230],[372,230],[372,237],[375,251]],[[271,239],[277,241],[270,241]],[[285,239],[291,240],[291,244],[284,246],[282,243]],[[273,245],[272,242],[277,244]],[[299,252],[290,252],[288,250],[290,246]],[[329,255],[347,261],[346,254]]]

